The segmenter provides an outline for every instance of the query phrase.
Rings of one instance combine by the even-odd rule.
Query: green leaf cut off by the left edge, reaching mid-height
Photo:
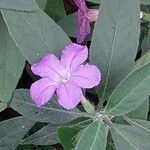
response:
[[[11,39],[0,14],[0,101],[3,107],[12,96],[22,74],[25,59]],[[4,107],[3,107],[4,108]]]

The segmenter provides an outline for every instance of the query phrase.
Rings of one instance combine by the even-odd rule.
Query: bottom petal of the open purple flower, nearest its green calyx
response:
[[[82,91],[73,82],[62,84],[57,89],[58,103],[65,109],[73,109],[81,101]]]

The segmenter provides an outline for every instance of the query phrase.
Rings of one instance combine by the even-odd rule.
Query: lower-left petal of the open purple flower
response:
[[[47,103],[53,96],[57,85],[48,78],[42,78],[31,85],[30,94],[37,106]]]

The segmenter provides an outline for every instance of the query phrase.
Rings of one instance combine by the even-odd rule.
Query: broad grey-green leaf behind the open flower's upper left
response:
[[[63,30],[44,12],[2,11],[17,47],[32,64],[47,53],[59,54],[70,43]]]

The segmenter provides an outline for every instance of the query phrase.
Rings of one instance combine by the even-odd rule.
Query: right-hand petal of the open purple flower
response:
[[[81,88],[93,88],[100,83],[101,73],[94,65],[81,65],[73,73],[71,81]]]

